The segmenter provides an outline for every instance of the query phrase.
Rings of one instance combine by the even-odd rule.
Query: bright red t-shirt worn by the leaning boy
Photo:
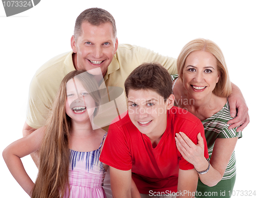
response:
[[[173,106],[167,114],[167,128],[160,142],[152,143],[131,122],[127,112],[109,126],[100,161],[120,170],[132,169],[132,178],[140,193],[177,192],[178,170],[193,169],[177,150],[175,134],[182,131],[195,144],[200,132],[204,138],[205,158],[209,158],[200,120],[185,109]]]

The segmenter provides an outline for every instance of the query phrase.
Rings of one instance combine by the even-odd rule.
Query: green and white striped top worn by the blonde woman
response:
[[[174,81],[178,75],[171,75],[172,80]],[[173,83],[173,87],[174,87]],[[217,112],[216,114],[212,115],[210,118],[202,121],[204,128],[205,128],[205,138],[207,141],[208,152],[209,152],[209,159],[211,159],[212,150],[214,147],[214,143],[216,138],[241,138],[242,132],[236,132],[236,128],[228,129],[229,124],[227,123],[231,120],[232,117],[230,116],[230,108],[229,103],[223,106],[221,111]],[[228,166],[225,170],[222,180],[227,180],[232,178],[236,173],[235,167],[235,151],[233,151]]]

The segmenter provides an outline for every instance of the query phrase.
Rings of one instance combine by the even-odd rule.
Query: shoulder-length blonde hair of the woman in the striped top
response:
[[[219,80],[213,90],[213,93],[220,97],[228,97],[232,92],[232,86],[228,75],[228,69],[225,62],[225,58],[221,49],[216,45],[215,42],[204,39],[197,38],[191,40],[183,47],[177,58],[177,69],[179,77],[183,75],[183,68],[188,55],[194,51],[205,51],[211,53],[216,57],[217,69],[219,72]]]

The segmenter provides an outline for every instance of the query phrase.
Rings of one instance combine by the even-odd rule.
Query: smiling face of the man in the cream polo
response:
[[[105,75],[118,48],[118,40],[113,34],[111,23],[93,26],[88,22],[81,25],[82,33],[75,41],[71,37],[71,48],[77,53],[76,70],[89,71],[101,68]]]

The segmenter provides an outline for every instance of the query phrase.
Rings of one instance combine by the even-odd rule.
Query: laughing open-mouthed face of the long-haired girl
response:
[[[66,94],[65,110],[72,122],[88,122],[88,118],[94,114],[96,103],[76,77],[66,83]]]

